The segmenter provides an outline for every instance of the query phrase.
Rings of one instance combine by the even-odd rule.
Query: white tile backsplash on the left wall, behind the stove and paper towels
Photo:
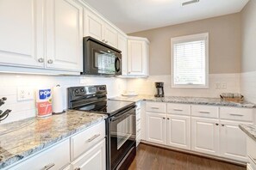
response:
[[[85,85],[107,85],[108,97],[122,94],[126,89],[126,79],[112,77],[89,77],[89,76],[38,76],[0,74],[0,97],[7,97],[6,103],[0,107],[2,111],[11,109],[9,117],[1,124],[13,122],[36,115],[35,100],[17,100],[17,89],[24,88],[53,88],[59,84],[63,89],[63,102],[66,106],[66,88]]]

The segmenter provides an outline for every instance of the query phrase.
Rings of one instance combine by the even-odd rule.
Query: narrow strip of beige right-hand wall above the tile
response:
[[[241,72],[256,71],[256,1],[251,0],[241,12]]]

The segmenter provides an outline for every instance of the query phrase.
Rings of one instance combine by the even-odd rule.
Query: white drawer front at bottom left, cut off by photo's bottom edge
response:
[[[34,155],[32,158],[22,161],[16,167],[11,169],[16,170],[28,170],[29,168],[34,170],[47,169],[59,170],[66,167],[70,162],[70,145],[69,140],[59,143],[50,149],[41,152],[38,155]]]

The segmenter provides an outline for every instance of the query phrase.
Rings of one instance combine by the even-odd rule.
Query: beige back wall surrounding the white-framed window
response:
[[[253,0],[254,1],[254,0]],[[150,40],[150,75],[170,75],[171,38],[209,32],[209,73],[240,73],[240,13],[129,35]]]

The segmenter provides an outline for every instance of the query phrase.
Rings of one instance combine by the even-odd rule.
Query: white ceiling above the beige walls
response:
[[[240,12],[249,0],[84,0],[125,33]]]

